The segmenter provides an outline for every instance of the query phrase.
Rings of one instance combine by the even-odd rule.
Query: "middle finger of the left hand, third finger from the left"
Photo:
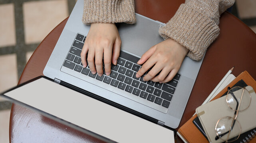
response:
[[[96,70],[97,70],[97,73],[99,76],[101,76],[103,74],[102,58],[103,58],[103,48],[98,48],[95,51],[95,66],[96,66]]]

